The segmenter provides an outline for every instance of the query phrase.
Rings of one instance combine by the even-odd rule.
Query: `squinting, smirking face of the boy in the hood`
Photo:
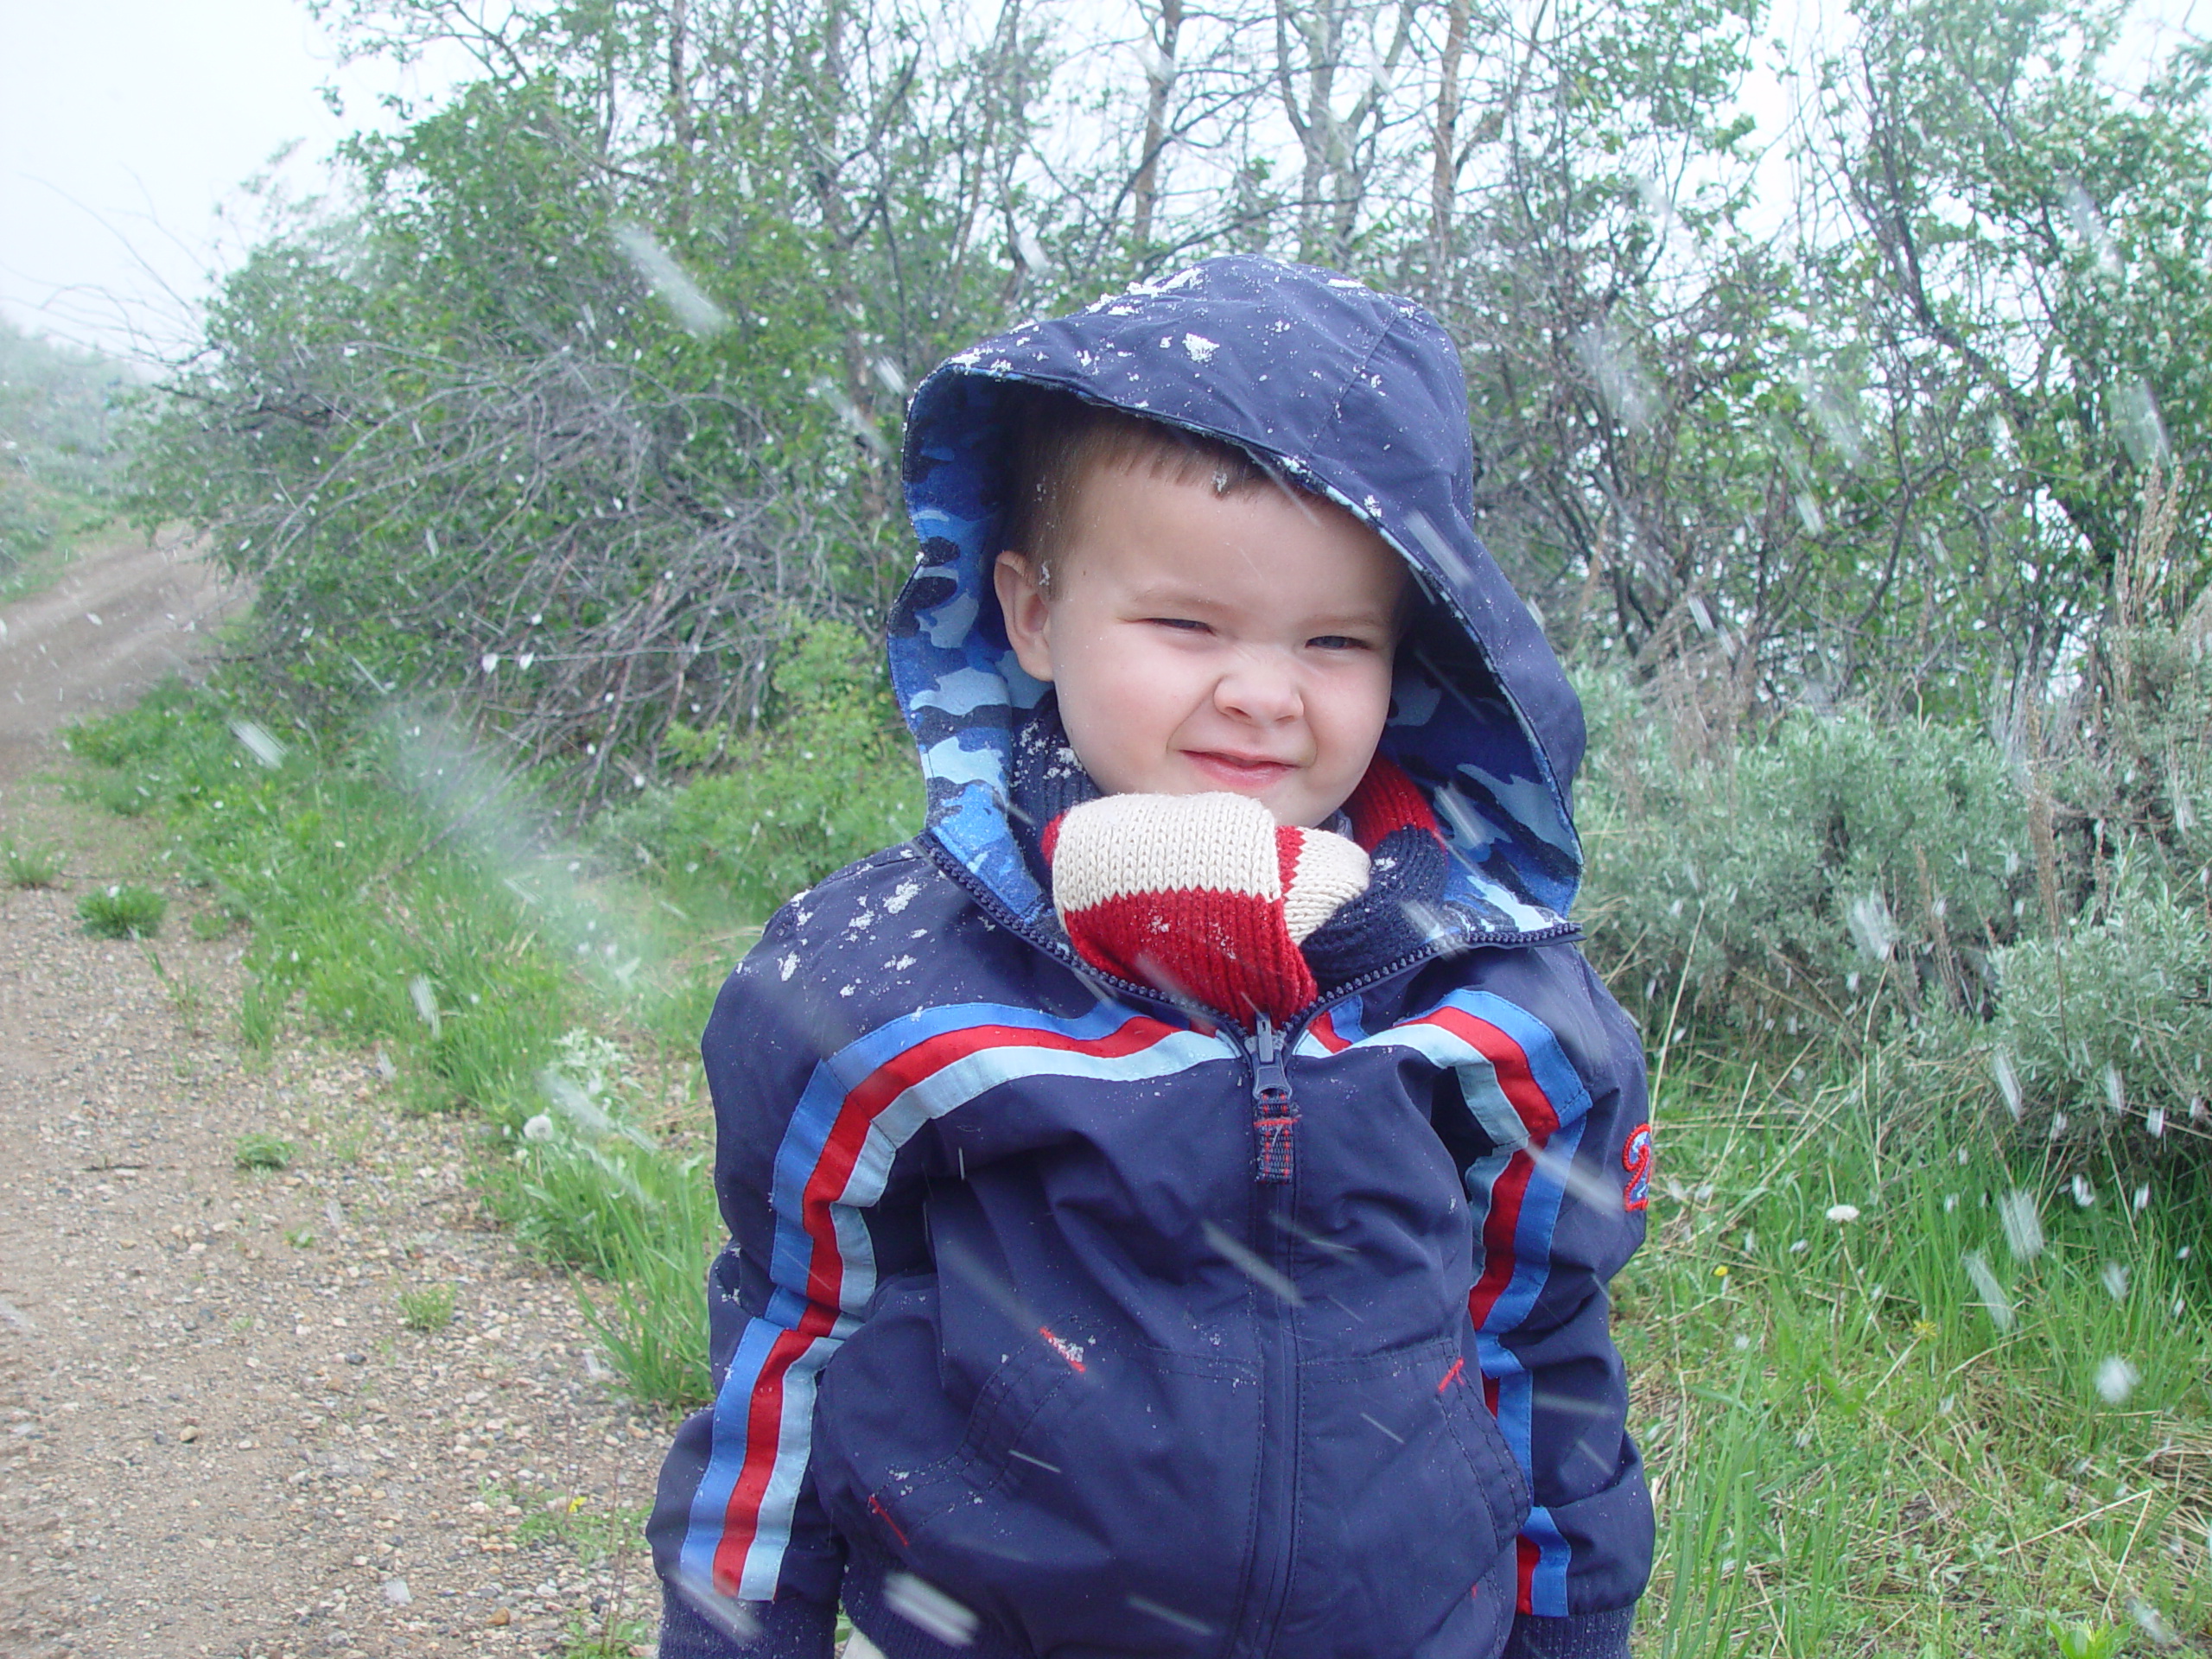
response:
[[[1018,553],[993,575],[1093,781],[1230,790],[1283,825],[1336,812],[1389,712],[1398,555],[1327,502],[1141,467],[1095,469],[1073,509],[1051,597]]]

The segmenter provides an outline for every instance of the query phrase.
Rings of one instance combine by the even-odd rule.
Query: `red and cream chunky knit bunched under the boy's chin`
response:
[[[1044,827],[1053,907],[1097,969],[1239,1020],[1318,995],[1298,949],[1367,891],[1367,854],[1241,794],[1108,794]]]

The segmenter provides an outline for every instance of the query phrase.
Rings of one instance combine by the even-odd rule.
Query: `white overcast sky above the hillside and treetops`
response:
[[[2199,9],[2212,0],[2154,0],[2130,49],[2174,44]],[[1801,53],[1843,18],[1845,0],[1776,0],[1765,35]],[[192,301],[250,241],[239,186],[299,142],[283,177],[312,192],[332,146],[383,119],[378,93],[445,84],[341,71],[301,0],[0,0],[0,314],[111,352],[177,352]],[[1772,80],[1747,100],[1778,126]]]

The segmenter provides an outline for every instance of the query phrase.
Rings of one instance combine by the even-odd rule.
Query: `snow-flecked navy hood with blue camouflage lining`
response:
[[[1582,703],[1475,538],[1458,349],[1411,301],[1250,254],[1024,323],[914,394],[905,491],[922,546],[889,659],[936,841],[1013,916],[1048,911],[1006,823],[1013,732],[1048,686],[1015,661],[991,584],[1020,385],[1241,445],[1398,551],[1422,604],[1398,646],[1383,752],[1429,794],[1453,852],[1444,900],[1460,916],[1438,927],[1557,927],[1582,874],[1568,796]]]

